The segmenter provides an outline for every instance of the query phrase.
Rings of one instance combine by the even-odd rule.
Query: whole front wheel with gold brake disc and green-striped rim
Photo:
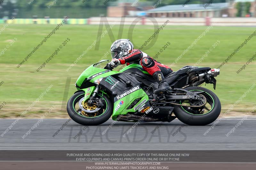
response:
[[[103,107],[88,104],[88,101],[84,102],[84,91],[71,96],[67,104],[70,118],[84,126],[95,126],[106,122],[112,115],[113,106],[105,94],[98,94],[96,97],[103,102]]]

